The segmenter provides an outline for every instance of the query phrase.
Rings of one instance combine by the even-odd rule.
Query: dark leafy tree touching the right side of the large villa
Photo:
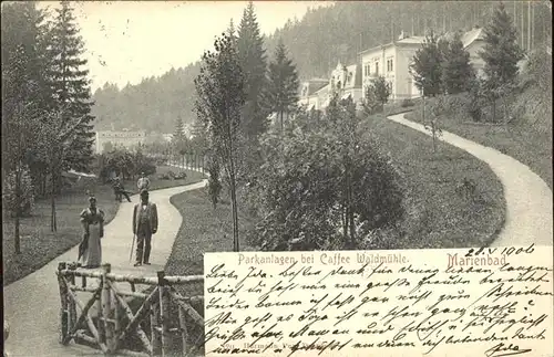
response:
[[[441,93],[442,55],[433,31],[425,36],[425,41],[416,52],[410,64],[410,73],[416,86],[425,96],[435,96]]]

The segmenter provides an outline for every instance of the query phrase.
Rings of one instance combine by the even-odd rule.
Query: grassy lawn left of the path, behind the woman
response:
[[[203,178],[199,172],[187,171],[185,180],[156,179],[157,175],[167,169],[166,167],[158,168],[158,172],[151,179],[151,189],[198,182]],[[176,170],[174,169],[174,171]],[[135,192],[135,185],[134,181],[127,181],[125,188]],[[57,233],[50,231],[50,199],[38,200],[32,217],[21,219],[21,254],[19,255],[13,254],[13,220],[4,214],[2,220],[4,286],[37,271],[81,241],[82,231],[79,213],[89,204],[86,189],[94,192],[98,206],[106,214],[106,221],[111,221],[117,211],[119,203],[115,202],[113,189],[109,185],[72,188],[60,195],[57,199]]]

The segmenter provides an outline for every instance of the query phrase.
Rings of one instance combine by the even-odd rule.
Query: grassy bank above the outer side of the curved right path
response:
[[[421,115],[407,119],[422,122]],[[552,189],[552,130],[533,130],[525,125],[486,125],[441,117],[442,128],[484,146],[495,148],[529,166]]]

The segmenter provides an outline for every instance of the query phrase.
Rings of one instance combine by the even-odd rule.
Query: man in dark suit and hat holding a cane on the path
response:
[[[141,191],[141,203],[133,210],[133,234],[136,235],[136,262],[134,266],[143,263],[150,265],[150,251],[152,234],[157,232],[157,208],[148,202],[148,191]]]

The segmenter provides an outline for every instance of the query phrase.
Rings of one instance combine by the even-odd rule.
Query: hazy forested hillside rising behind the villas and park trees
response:
[[[438,32],[469,30],[484,25],[494,1],[380,1],[337,2],[309,10],[301,20],[289,20],[283,29],[265,39],[266,52],[274,53],[283,38],[297,64],[300,78],[327,76],[340,59],[351,63],[361,50],[387,43],[406,34],[422,35],[428,29]],[[530,6],[531,4],[531,6]],[[550,41],[552,12],[550,2],[510,2],[515,15],[522,48],[533,49]],[[531,20],[531,21],[530,21]],[[192,123],[198,64],[172,69],[157,78],[144,80],[121,91],[106,85],[96,91],[96,128],[141,128],[172,133],[176,119]]]

